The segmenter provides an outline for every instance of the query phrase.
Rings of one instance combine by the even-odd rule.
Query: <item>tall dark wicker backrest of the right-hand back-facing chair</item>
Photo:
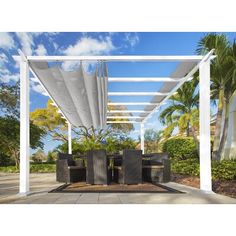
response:
[[[142,151],[125,149],[123,151],[122,169],[124,182],[135,184],[142,182]]]

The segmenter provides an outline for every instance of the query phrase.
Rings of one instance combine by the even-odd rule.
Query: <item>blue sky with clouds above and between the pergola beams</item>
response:
[[[0,79],[12,83],[19,79],[19,66],[13,60],[17,49],[26,55],[193,55],[197,43],[205,33],[0,33]],[[229,40],[236,33],[226,33]],[[72,62],[63,68],[76,67]],[[169,76],[175,63],[109,63],[109,76]],[[135,85],[135,86],[134,86]],[[112,83],[109,91],[158,91],[161,84]],[[45,107],[48,96],[37,80],[30,82],[30,110]],[[129,97],[111,97],[112,101],[129,101]],[[151,97],[135,98],[132,101],[149,101]],[[131,100],[130,100],[131,101]],[[132,107],[140,109],[142,107]],[[162,108],[163,109],[163,108]],[[146,128],[162,129],[158,112],[149,119]],[[130,134],[138,138],[139,125]],[[53,149],[59,143],[45,138],[45,148]]]

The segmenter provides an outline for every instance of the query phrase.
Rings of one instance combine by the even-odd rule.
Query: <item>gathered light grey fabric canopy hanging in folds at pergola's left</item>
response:
[[[92,74],[85,72],[82,63],[74,71],[49,67],[44,61],[30,62],[30,66],[72,125],[105,127],[108,74],[104,63],[98,63]]]

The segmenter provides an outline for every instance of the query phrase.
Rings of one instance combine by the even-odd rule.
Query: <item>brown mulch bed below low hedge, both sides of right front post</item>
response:
[[[200,179],[199,177],[189,176],[189,175],[180,175],[172,174],[172,181],[199,188]],[[212,181],[212,190],[215,193],[222,194],[228,197],[236,198],[236,181],[235,180],[213,180]]]

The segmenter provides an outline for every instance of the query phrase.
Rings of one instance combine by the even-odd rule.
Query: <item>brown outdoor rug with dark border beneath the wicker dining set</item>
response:
[[[64,184],[51,193],[182,193],[178,190],[163,186],[161,184],[143,183],[136,185],[120,185],[111,183],[109,185],[88,185],[86,182]]]

